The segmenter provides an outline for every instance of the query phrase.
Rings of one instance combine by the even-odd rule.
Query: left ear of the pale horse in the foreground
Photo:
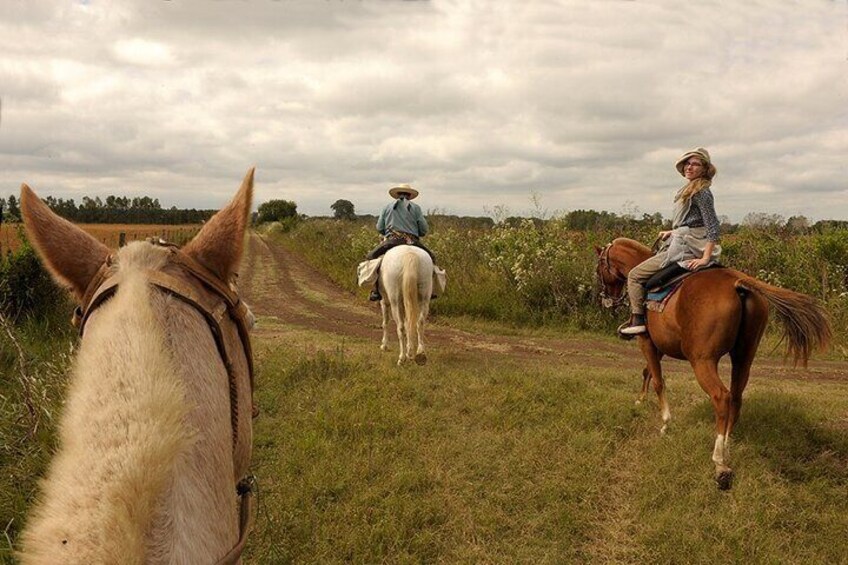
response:
[[[82,300],[91,279],[109,257],[109,248],[54,214],[26,184],[21,185],[21,216],[27,237],[47,270]]]

